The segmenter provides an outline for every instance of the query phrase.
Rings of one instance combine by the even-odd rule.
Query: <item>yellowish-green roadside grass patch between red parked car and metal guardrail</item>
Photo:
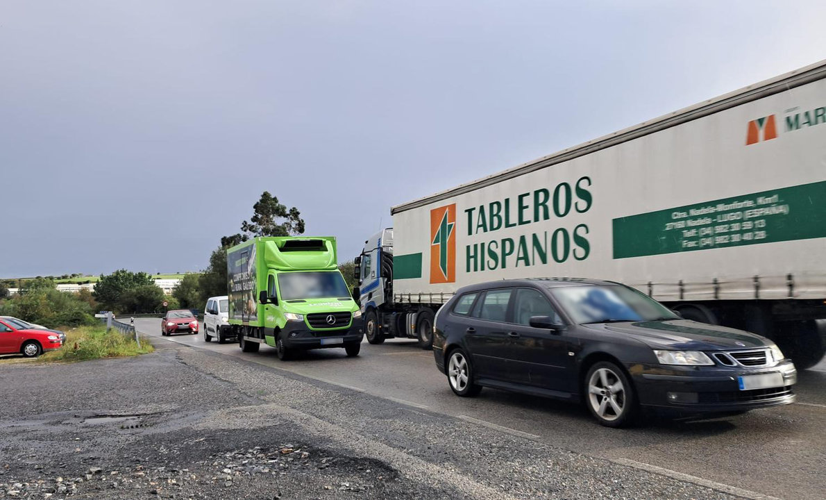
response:
[[[106,326],[78,326],[66,331],[66,343],[59,350],[40,356],[44,362],[85,361],[145,355],[154,351],[149,339],[140,337],[140,348],[131,336]]]

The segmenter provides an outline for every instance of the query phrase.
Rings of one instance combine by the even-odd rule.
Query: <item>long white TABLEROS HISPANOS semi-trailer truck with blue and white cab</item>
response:
[[[824,355],[826,61],[391,209],[356,259],[368,341],[466,284],[627,283],[695,321]]]

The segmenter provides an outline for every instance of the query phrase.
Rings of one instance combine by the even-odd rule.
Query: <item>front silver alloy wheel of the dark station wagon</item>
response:
[[[601,361],[585,376],[586,406],[601,425],[629,426],[637,413],[634,385],[616,364]]]

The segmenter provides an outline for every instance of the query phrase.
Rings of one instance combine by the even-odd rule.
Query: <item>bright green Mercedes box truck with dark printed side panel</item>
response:
[[[241,350],[343,347],[358,355],[363,323],[339,272],[335,237],[257,237],[226,250],[230,328]]]

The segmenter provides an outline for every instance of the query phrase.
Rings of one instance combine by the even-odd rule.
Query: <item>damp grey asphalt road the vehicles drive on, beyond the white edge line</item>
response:
[[[147,336],[160,335],[158,319],[137,319],[135,326]],[[247,354],[235,343],[207,343],[201,335],[167,338],[746,498],[824,498],[826,491],[824,364],[800,373],[798,399],[790,406],[702,421],[652,417],[638,428],[614,430],[568,403],[492,389],[479,398],[457,398],[432,353],[412,341],[365,341],[355,359],[333,349],[282,362],[266,345]]]

